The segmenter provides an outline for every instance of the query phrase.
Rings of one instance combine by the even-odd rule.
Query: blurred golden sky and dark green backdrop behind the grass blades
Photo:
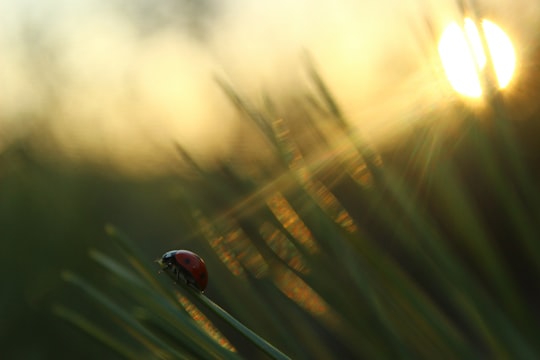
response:
[[[265,114],[285,118],[302,151],[312,155],[306,160],[311,168],[324,168],[321,181],[341,194],[355,220],[361,219],[356,225],[372,238],[391,237],[377,219],[362,215],[361,202],[346,203],[354,187],[339,180],[343,169],[321,165],[343,147],[322,146],[320,133],[334,144],[346,135],[310,122],[318,117],[310,115],[316,86],[306,57],[327,81],[347,123],[395,166],[427,209],[439,214],[435,222],[449,239],[459,236],[446,228],[445,212],[436,211],[429,160],[456,161],[459,176],[475,194],[471,199],[485,215],[482,223],[508,254],[503,267],[511,268],[517,296],[534,306],[534,267],[521,261],[523,249],[504,242],[505,235],[514,236],[504,226],[504,211],[492,206],[492,194],[483,193],[484,183],[476,181],[481,167],[469,162],[475,138],[460,111],[465,106],[484,121],[489,116],[482,105],[456,97],[438,63],[434,39],[460,16],[458,5],[427,0],[1,2],[0,357],[117,356],[51,311],[58,303],[76,304],[107,320],[84,310],[90,301],[60,276],[71,269],[104,282],[87,254],[89,248],[112,247],[105,224],[128,233],[148,261],[169,249],[191,248],[208,258],[210,268],[223,269],[216,247],[201,240],[194,204],[209,219],[233,208],[243,209],[249,219],[259,214],[257,201],[262,201],[251,195],[268,184],[302,203],[301,192],[280,177],[287,166],[272,152],[264,131],[246,120],[245,108],[216,79],[233,84]],[[505,100],[526,167],[537,179],[540,5],[532,0],[477,5],[516,46],[518,73]],[[489,133],[489,124],[486,129]],[[411,159],[419,162],[419,149],[425,161],[420,170],[410,165]],[[207,192],[191,160],[204,169],[203,179],[217,179],[230,197]],[[402,255],[393,250],[393,256]],[[474,257],[464,258],[475,263]],[[232,301],[226,291],[226,282],[234,281],[230,277],[210,279],[208,295],[224,306]],[[249,289],[256,283],[234,286]],[[306,327],[316,322],[305,315],[313,310],[299,307],[298,321]],[[335,334],[320,324],[315,328],[327,341],[327,355],[353,351],[348,340],[332,345]]]

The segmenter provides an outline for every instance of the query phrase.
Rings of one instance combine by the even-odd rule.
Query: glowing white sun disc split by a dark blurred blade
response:
[[[497,85],[504,89],[512,80],[516,68],[516,53],[506,33],[489,20],[482,20],[488,51],[493,61]],[[488,56],[484,52],[478,27],[469,18],[460,27],[456,22],[444,30],[439,41],[439,55],[448,81],[460,94],[480,97],[480,74]]]

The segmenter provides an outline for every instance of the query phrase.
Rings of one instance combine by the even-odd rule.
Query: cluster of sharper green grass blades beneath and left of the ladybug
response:
[[[202,331],[197,325],[193,324],[190,318],[185,316],[185,311],[183,311],[178,301],[175,300],[175,297],[171,296],[172,291],[163,288],[162,284],[156,281],[155,269],[150,268],[148,264],[141,261],[142,258],[139,257],[141,254],[137,254],[137,250],[125,235],[119,233],[118,230],[112,226],[107,226],[107,232],[116,240],[116,243],[123,248],[125,254],[129,257],[131,265],[137,269],[137,273],[133,273],[132,270],[125,268],[123,265],[98,251],[93,250],[90,255],[94,260],[119,278],[120,281],[118,284],[120,284],[122,288],[125,288],[126,292],[137,297],[141,302],[141,305],[146,305],[143,309],[145,310],[145,313],[147,311],[148,313],[142,314],[143,317],[149,317],[146,320],[155,322],[155,325],[159,325],[162,330],[168,331],[171,337],[184,340],[180,342],[187,345],[187,348],[190,349],[190,353],[193,353],[197,358],[233,359],[237,357],[234,352],[231,352],[226,346],[218,346],[219,344],[216,343],[215,338],[209,337],[207,333]],[[163,341],[162,338],[156,336],[155,333],[148,331],[146,327],[141,326],[138,321],[133,319],[126,309],[116,305],[105,293],[88,284],[77,275],[71,272],[65,272],[63,277],[67,282],[78,286],[85,291],[87,295],[102,304],[110,311],[111,315],[118,317],[132,332],[136,332],[137,337],[139,339],[144,339],[144,342],[149,345],[154,354],[162,353],[165,358],[170,358],[171,356],[172,358],[187,356],[185,352],[175,349],[167,344],[167,342]],[[142,279],[146,279],[147,282],[141,281],[141,277]],[[182,286],[181,284],[178,285]],[[245,336],[248,341],[252,342],[265,352],[270,358],[288,359],[286,355],[264,339],[260,338],[212,300],[208,299],[204,294],[187,286],[185,287],[185,290],[186,295],[188,295],[190,299],[196,300],[197,305],[203,305],[205,308],[222,318],[231,327]],[[164,297],[168,297],[169,301],[166,301],[167,299]],[[115,342],[109,334],[106,334],[90,321],[83,319],[76,313],[61,306],[57,307],[55,312],[66,320],[78,325],[83,330],[86,330],[91,335],[96,336],[99,340],[105,342],[122,355],[129,358],[139,357],[139,355],[129,350],[129,347]],[[223,337],[221,337],[221,340],[226,341]]]

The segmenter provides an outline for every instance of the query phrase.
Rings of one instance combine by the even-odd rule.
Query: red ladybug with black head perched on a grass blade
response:
[[[200,291],[206,289],[208,272],[201,257],[188,250],[167,251],[161,257],[162,269],[175,281],[183,280]]]

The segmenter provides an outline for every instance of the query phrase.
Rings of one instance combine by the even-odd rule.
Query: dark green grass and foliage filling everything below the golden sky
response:
[[[375,152],[311,78],[260,106],[220,83],[258,128],[256,165],[205,169],[179,148],[185,177],[134,181],[7,149],[2,357],[264,358],[212,299],[293,358],[537,358],[536,114],[454,100]],[[174,248],[206,260],[208,298],[158,274]]]

